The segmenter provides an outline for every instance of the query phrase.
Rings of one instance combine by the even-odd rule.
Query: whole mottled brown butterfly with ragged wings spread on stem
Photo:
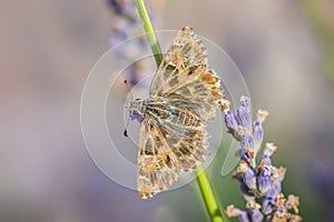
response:
[[[224,99],[219,78],[208,68],[206,49],[191,28],[178,31],[153,77],[149,98],[129,100],[140,122],[137,185],[150,199],[209,154],[207,121]]]

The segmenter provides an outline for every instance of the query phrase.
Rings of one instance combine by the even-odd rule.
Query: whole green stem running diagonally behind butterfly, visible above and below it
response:
[[[156,62],[159,65],[163,61],[163,53],[160,50],[160,46],[157,39],[157,36],[155,33],[154,27],[151,24],[149,14],[147,12],[147,8],[144,0],[136,0],[137,8],[139,11],[139,14],[141,17],[141,20],[144,22],[144,29],[149,42],[149,46],[151,48],[151,51],[155,56]],[[203,165],[198,165],[196,169],[197,174],[197,182],[200,188],[200,192],[203,194],[203,199],[206,203],[208,214],[213,222],[223,222],[223,216],[220,209],[217,204],[216,198],[214,195],[214,191],[212,189],[212,185],[209,183],[209,180],[206,175],[205,169]]]

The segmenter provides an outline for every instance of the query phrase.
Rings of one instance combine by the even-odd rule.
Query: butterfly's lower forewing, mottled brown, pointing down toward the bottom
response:
[[[157,128],[157,122],[149,118],[140,125],[137,161],[137,183],[141,199],[153,198],[171,185],[180,173],[176,154]]]

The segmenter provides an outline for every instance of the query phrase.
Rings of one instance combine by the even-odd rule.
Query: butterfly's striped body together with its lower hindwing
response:
[[[159,124],[180,169],[189,171],[209,154],[208,133],[196,103],[180,95],[147,100],[147,114]]]

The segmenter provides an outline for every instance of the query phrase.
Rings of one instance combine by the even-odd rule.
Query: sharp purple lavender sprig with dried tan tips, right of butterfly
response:
[[[252,122],[250,99],[244,95],[235,113],[229,109],[229,101],[224,101],[222,108],[228,132],[240,143],[237,151],[240,162],[233,178],[239,181],[246,201],[245,209],[227,206],[225,211],[227,216],[238,216],[240,222],[302,221],[302,216],[297,215],[298,196],[288,195],[286,199],[282,193],[286,169],[272,164],[271,157],[277,147],[266,143],[263,151],[261,150],[264,137],[263,123],[268,112],[258,110],[256,120]],[[261,155],[257,158],[258,153]]]

